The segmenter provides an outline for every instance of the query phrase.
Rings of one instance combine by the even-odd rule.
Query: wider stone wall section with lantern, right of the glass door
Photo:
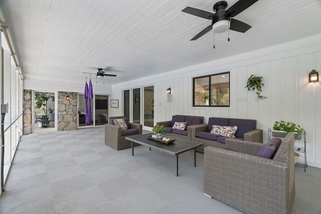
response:
[[[66,97],[69,96],[69,100]],[[77,93],[58,92],[58,131],[77,129]]]

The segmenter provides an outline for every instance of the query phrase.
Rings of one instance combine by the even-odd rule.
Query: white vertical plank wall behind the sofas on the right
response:
[[[301,43],[304,42],[287,44],[292,45],[292,48],[284,49],[283,52],[282,46],[269,48],[268,53],[274,50],[275,54],[264,57],[256,52],[247,53],[238,56],[242,61],[232,57],[230,62],[229,59],[212,61],[145,78],[135,84],[114,86],[112,99],[120,100],[120,108],[111,109],[110,115],[122,114],[123,88],[153,83],[154,123],[171,120],[175,114],[204,116],[205,123],[209,117],[256,119],[257,127],[263,129],[263,141],[267,142],[267,130],[273,127],[275,121],[290,121],[306,131],[308,165],[321,168],[321,45],[302,48]],[[295,49],[297,44],[301,46]],[[319,72],[320,81],[317,83],[308,82],[308,74],[312,69]],[[230,107],[193,107],[193,77],[226,71],[230,71]],[[245,89],[251,74],[263,77],[261,95],[266,99],[256,100],[255,92]],[[167,102],[166,89],[169,87],[174,96],[173,102]],[[246,98],[247,102],[238,102],[238,98]],[[303,146],[303,140],[295,144]],[[300,154],[298,161],[302,162],[303,154]]]

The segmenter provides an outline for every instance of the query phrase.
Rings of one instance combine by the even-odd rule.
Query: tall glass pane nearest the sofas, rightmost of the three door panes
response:
[[[144,126],[154,125],[154,86],[144,87]]]

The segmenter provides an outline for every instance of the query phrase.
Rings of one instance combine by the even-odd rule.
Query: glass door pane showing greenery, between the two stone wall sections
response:
[[[35,129],[55,128],[55,93],[35,92]]]

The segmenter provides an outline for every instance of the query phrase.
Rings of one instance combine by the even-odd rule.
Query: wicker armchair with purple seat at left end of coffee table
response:
[[[118,116],[118,117],[109,117],[109,121],[112,119],[120,119],[125,118],[125,116]],[[138,129],[138,133],[129,134],[129,135],[122,135],[122,130],[120,126],[115,126],[112,124],[105,124],[105,144],[112,147],[115,150],[120,150],[124,148],[131,147],[131,142],[126,140],[125,137],[138,135],[142,133],[142,125],[137,123],[128,123],[128,129]],[[139,144],[134,144],[139,145]]]

